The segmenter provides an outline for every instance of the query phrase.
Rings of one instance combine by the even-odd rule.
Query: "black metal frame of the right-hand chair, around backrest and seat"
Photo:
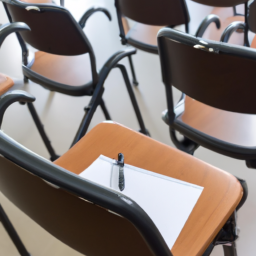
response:
[[[237,29],[237,27],[236,27]],[[158,45],[160,49],[160,58],[162,65],[162,74],[163,81],[166,88],[166,97],[167,97],[167,106],[168,109],[163,114],[163,120],[170,127],[170,136],[175,144],[175,146],[182,151],[185,151],[189,154],[193,154],[194,151],[200,146],[206,147],[210,150],[213,150],[217,153],[245,160],[246,164],[249,168],[256,167],[256,147],[243,147],[240,145],[231,144],[217,138],[213,138],[207,134],[204,134],[192,127],[188,127],[185,123],[179,121],[177,117],[182,113],[180,109],[182,109],[184,105],[184,97],[186,92],[182,94],[181,100],[175,106],[173,102],[172,96],[172,86],[171,86],[171,77],[168,75],[168,67],[166,67],[166,62],[164,60],[164,50],[163,50],[163,38],[168,38],[170,40],[176,40],[177,42],[181,42],[184,45],[189,47],[194,47],[195,45],[202,45],[200,42],[201,38],[196,38],[191,35],[185,35],[184,33],[174,31],[171,29],[162,29],[158,34]],[[203,51],[209,51],[208,49],[213,49],[212,54],[222,54],[229,55],[234,57],[240,57],[248,60],[256,61],[256,51],[247,47],[239,47],[235,45],[223,44],[222,42],[214,42],[210,40],[205,40],[205,45],[202,45]],[[206,47],[207,45],[207,47]],[[193,95],[189,95],[193,98]],[[202,99],[203,102],[203,99]],[[223,107],[225,110],[228,110],[227,103],[223,102]],[[221,108],[221,107],[220,107]],[[230,109],[230,111],[232,111]],[[235,111],[236,112],[236,111]],[[240,111],[237,111],[240,112]],[[243,111],[240,113],[248,113],[253,114],[253,109],[249,110],[248,106],[244,107]],[[180,132],[186,138],[183,141],[177,139],[175,131]]]

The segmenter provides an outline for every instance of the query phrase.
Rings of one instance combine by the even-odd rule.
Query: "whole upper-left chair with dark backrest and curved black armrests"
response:
[[[11,22],[22,21],[31,28],[28,33],[18,34],[22,46],[24,76],[50,91],[70,96],[92,96],[72,145],[86,133],[99,105],[105,118],[111,119],[102,95],[104,82],[113,68],[120,69],[141,126],[140,131],[148,134],[126,68],[119,64],[121,59],[135,54],[136,50],[127,48],[112,55],[98,73],[92,46],[82,30],[88,18],[96,11],[102,11],[111,19],[107,10],[92,8],[77,23],[68,10],[56,5],[31,5],[18,0],[3,0],[3,4]],[[27,60],[25,42],[39,50],[31,63]]]

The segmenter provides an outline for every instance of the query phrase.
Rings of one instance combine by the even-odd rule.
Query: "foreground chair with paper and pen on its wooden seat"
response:
[[[172,252],[132,199],[78,176],[100,154],[116,158],[119,152],[128,164],[204,187]],[[84,255],[207,256],[217,244],[235,244],[235,212],[246,199],[245,182],[119,124],[97,125],[55,163],[0,131],[0,154],[1,192],[42,228]],[[8,221],[4,224],[7,231],[13,228]],[[230,253],[235,247],[224,250]]]

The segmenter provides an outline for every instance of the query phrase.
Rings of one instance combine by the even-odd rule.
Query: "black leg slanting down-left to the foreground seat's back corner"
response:
[[[84,114],[84,117],[83,117],[83,120],[79,126],[79,129],[76,133],[76,136],[72,142],[72,145],[75,145],[84,135],[85,133],[87,132],[88,130],[88,127],[91,123],[91,120],[92,120],[92,117],[93,117],[93,114],[94,112],[96,111],[97,107],[99,105],[102,104],[102,95],[103,95],[103,92],[104,92],[104,88],[103,87],[99,87],[99,88],[96,88],[94,93],[93,93],[93,96],[90,100],[90,103],[87,107],[85,107],[85,114]]]

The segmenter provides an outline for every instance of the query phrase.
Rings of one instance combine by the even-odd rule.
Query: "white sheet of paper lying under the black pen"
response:
[[[80,176],[120,192],[113,163],[101,155]],[[171,250],[204,188],[127,164],[124,175],[122,193],[149,215]]]

